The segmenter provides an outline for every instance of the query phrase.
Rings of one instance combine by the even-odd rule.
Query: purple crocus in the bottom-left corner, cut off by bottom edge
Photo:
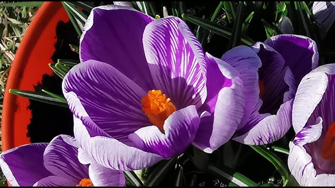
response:
[[[0,166],[11,186],[125,186],[122,171],[91,162],[78,148],[73,137],[59,135],[49,144],[28,144],[2,152]]]

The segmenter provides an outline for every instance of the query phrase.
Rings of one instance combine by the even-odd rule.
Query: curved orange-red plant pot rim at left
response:
[[[60,1],[45,1],[31,21],[9,72],[3,99],[1,142],[2,151],[29,144],[26,137],[31,112],[29,100],[10,94],[9,89],[34,91],[43,74],[52,74],[55,52],[56,26],[59,21],[68,22],[69,17]]]

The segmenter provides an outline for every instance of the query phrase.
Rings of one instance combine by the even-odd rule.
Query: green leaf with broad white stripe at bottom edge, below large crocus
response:
[[[224,166],[222,168],[215,167],[213,165],[208,166],[209,173],[215,175],[218,178],[224,178],[228,181],[230,181],[229,186],[258,186],[255,182],[251,181],[249,178],[244,176],[241,173],[238,173],[234,171],[233,169],[230,169],[227,166]]]

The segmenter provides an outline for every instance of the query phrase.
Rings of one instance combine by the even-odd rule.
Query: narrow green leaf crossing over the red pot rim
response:
[[[54,98],[54,97],[48,96],[43,93],[17,90],[17,89],[9,89],[9,93],[15,94],[18,96],[23,96],[31,100],[36,100],[36,101],[68,108],[66,101],[64,102],[58,98]]]

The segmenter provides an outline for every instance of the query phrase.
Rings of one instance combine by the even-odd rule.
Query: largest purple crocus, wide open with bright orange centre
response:
[[[64,77],[63,94],[75,137],[104,167],[150,167],[184,152],[196,135],[197,145],[215,150],[242,119],[240,75],[204,54],[179,18],[96,7],[84,26],[80,59]]]

